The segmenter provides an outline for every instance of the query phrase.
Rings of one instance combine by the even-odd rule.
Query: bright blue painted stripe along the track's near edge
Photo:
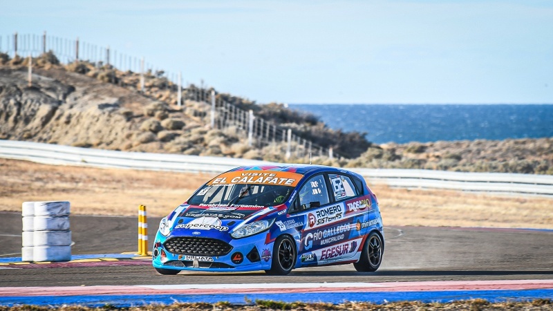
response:
[[[0,296],[0,305],[64,305],[79,304],[88,307],[114,305],[131,307],[152,303],[170,305],[172,303],[216,303],[228,301],[244,304],[245,297],[250,301],[303,301],[343,303],[344,301],[366,301],[385,303],[394,301],[449,302],[466,299],[486,299],[490,302],[528,301],[534,299],[553,299],[553,289],[545,290],[449,290],[433,292],[313,292],[297,294],[159,294],[159,295],[98,295],[98,296]]]

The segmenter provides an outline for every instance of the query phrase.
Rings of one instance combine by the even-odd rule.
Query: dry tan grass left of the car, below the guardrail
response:
[[[21,203],[68,200],[73,214],[165,216],[212,175],[96,169],[0,159],[0,210],[21,211]]]

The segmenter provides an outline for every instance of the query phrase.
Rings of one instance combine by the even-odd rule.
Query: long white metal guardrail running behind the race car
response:
[[[237,158],[110,151],[15,140],[0,140],[0,157],[46,164],[192,173],[221,173],[242,165],[271,164],[271,162]],[[386,184],[390,187],[455,189],[553,197],[553,176],[518,173],[464,173],[425,169],[351,170],[364,176],[371,184]]]

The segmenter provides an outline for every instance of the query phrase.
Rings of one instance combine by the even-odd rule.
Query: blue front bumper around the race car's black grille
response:
[[[232,249],[223,256],[203,256],[170,252],[163,243],[171,236],[158,232],[152,250],[152,265],[171,270],[207,272],[243,272],[269,270],[272,264],[273,242],[265,244],[267,232],[247,238],[232,239]]]

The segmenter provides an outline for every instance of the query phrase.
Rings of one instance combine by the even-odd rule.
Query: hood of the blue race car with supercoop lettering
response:
[[[231,232],[243,223],[277,215],[275,207],[202,207],[181,205],[171,215],[171,228],[179,235],[212,235]],[[202,234],[204,233],[204,234]]]

